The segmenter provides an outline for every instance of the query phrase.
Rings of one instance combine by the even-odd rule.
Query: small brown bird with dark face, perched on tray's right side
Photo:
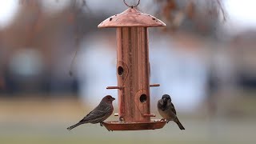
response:
[[[164,94],[162,98],[158,100],[158,112],[162,116],[162,118],[167,120],[167,123],[170,121],[174,121],[177,123],[178,127],[181,130],[185,130],[185,128],[182,126],[182,123],[178,120],[174,104],[171,102],[170,99],[170,95]]]

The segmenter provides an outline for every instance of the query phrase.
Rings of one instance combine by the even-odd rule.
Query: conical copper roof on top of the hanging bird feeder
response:
[[[98,25],[98,28],[142,26],[160,27],[166,26],[164,22],[150,14],[144,14],[136,8],[129,8],[121,14],[115,14]]]

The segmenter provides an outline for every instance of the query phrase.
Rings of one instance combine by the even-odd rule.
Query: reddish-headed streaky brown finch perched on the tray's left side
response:
[[[110,95],[106,95],[106,97],[102,98],[102,101],[99,103],[97,107],[95,107],[94,110],[90,111],[89,114],[86,115],[86,117],[82,118],[81,121],[79,121],[74,126],[70,126],[67,128],[67,130],[72,130],[74,127],[85,124],[85,123],[98,123],[100,122],[102,124],[103,121],[106,120],[106,118],[109,118],[110,115],[113,113],[113,105],[112,102],[115,98],[111,97]]]

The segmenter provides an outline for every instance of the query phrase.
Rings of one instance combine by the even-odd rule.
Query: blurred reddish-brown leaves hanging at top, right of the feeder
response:
[[[221,0],[154,0],[158,14],[167,23],[166,30],[190,31],[210,35],[218,25],[219,17],[226,21]]]

